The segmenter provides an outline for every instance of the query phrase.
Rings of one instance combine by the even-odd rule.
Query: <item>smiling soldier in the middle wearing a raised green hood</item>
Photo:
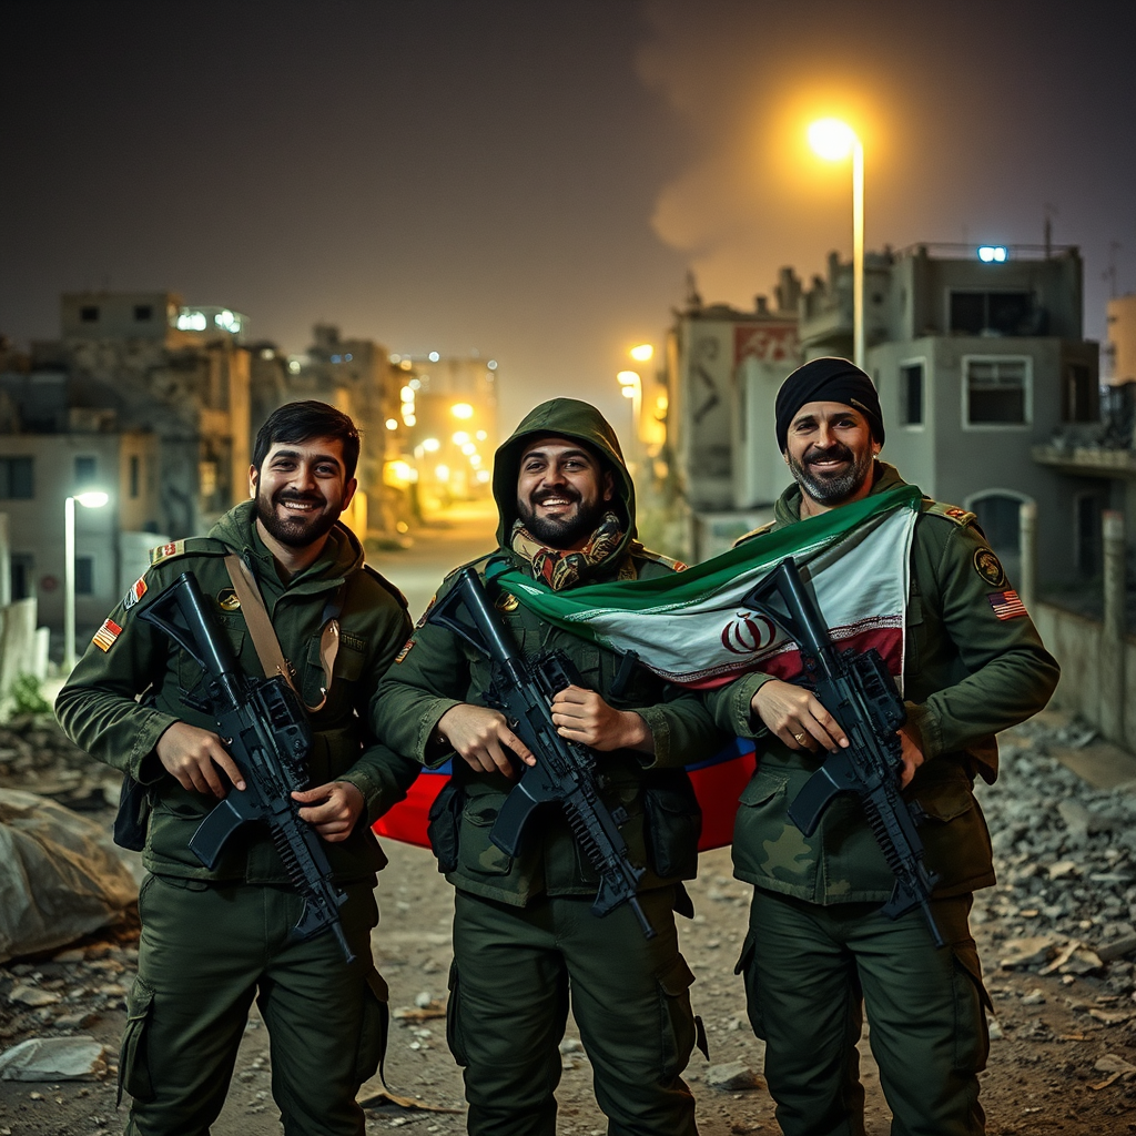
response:
[[[533,410],[498,450],[493,493],[498,550],[475,562],[482,575],[503,560],[560,591],[675,570],[635,540],[619,444],[586,402],[552,399]],[[457,888],[448,1033],[465,1066],[469,1131],[552,1136],[570,997],[608,1130],[692,1134],[694,1101],[682,1072],[695,1043],[693,976],[673,912],[690,913],[679,882],[695,874],[701,817],[682,766],[722,738],[694,695],[558,630],[507,592],[490,594],[526,655],[561,650],[582,675],[556,699],[553,721],[561,736],[598,752],[605,802],[629,815],[623,833],[630,859],[648,869],[638,899],[657,935],[644,937],[627,904],[592,913],[596,874],[556,805],[526,827],[516,858],[490,842],[516,784],[516,759],[532,757],[486,707],[482,657],[419,621],[379,687],[376,718],[386,744],[427,766],[456,754],[431,838]]]

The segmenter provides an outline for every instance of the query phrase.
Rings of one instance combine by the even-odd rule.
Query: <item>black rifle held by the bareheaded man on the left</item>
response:
[[[182,573],[139,615],[165,632],[204,673],[206,699],[217,733],[247,786],[231,788],[201,821],[190,838],[194,855],[212,868],[237,828],[254,820],[267,824],[289,879],[304,901],[291,937],[302,942],[331,929],[351,962],[354,955],[339,913],[346,894],[332,883],[319,835],[300,819],[301,805],[292,800],[293,790],[308,787],[311,749],[308,716],[299,695],[283,676],[244,675],[193,573]]]

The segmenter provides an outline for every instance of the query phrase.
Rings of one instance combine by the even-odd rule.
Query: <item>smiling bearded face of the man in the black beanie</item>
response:
[[[807,402],[794,415],[785,461],[801,486],[801,516],[867,496],[879,443],[868,419],[843,402]]]

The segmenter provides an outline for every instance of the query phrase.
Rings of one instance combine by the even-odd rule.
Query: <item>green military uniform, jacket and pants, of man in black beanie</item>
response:
[[[877,462],[872,493],[902,484]],[[795,524],[800,503],[800,488],[786,490],[772,527]],[[970,893],[994,883],[994,868],[971,787],[976,775],[994,780],[994,734],[1044,707],[1058,666],[974,521],[924,499],[907,607],[908,728],[926,760],[904,796],[928,816],[919,833],[939,876],[933,908],[949,949],[935,950],[918,910],[894,922],[880,913],[894,877],[854,799],[836,797],[812,836],[788,819],[825,754],[792,751],[751,718],[750,699],[767,676],[713,696],[719,724],[763,738],[734,832],[735,875],[755,888],[738,970],[788,1136],[863,1130],[853,1049],[861,995],[893,1133],[983,1130],[977,1074],[988,1001],[967,914]]]

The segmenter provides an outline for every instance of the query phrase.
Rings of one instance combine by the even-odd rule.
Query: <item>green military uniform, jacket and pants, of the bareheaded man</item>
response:
[[[267,829],[245,826],[216,868],[190,837],[216,805],[166,772],[154,746],[175,721],[215,729],[193,660],[139,612],[183,571],[193,571],[245,674],[262,675],[225,567],[239,553],[257,577],[295,686],[309,705],[326,685],[319,636],[333,616],[340,649],[326,703],[310,715],[310,784],[351,782],[366,821],[324,843],[356,954],[344,964],[335,937],[289,943],[301,897]],[[149,802],[139,910],[139,974],[127,1000],[119,1076],[134,1097],[127,1131],[206,1133],[224,1103],[253,995],[272,1043],[273,1093],[290,1134],[361,1134],[359,1085],[377,1068],[386,1029],[386,986],[370,954],[378,920],[375,874],[386,860],[368,824],[406,795],[417,767],[374,742],[368,704],[409,630],[401,595],[362,562],[362,549],[333,528],[317,560],[282,582],[257,534],[253,502],[226,513],[207,537],[156,549],[151,567],[115,609],[56,703],[67,734],[93,757],[145,786]],[[141,701],[135,695],[142,694]],[[318,1076],[312,1075],[318,1069]]]

